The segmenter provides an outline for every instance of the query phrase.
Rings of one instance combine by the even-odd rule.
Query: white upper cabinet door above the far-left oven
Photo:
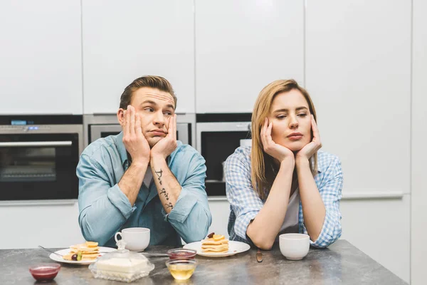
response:
[[[0,114],[81,114],[78,0],[0,1]]]

